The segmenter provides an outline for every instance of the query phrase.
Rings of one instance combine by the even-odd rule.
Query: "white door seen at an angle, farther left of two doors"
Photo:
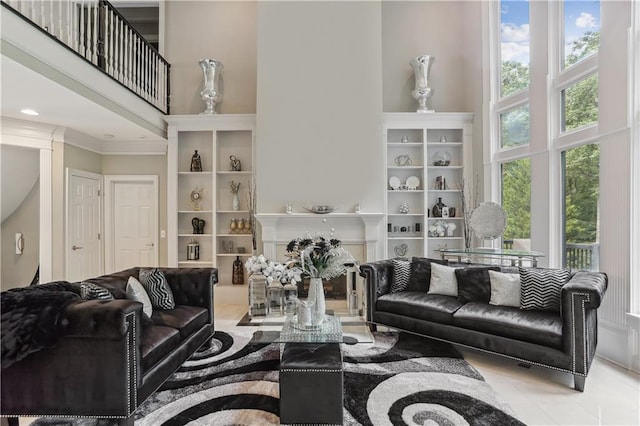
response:
[[[102,275],[100,175],[67,169],[66,279]]]

